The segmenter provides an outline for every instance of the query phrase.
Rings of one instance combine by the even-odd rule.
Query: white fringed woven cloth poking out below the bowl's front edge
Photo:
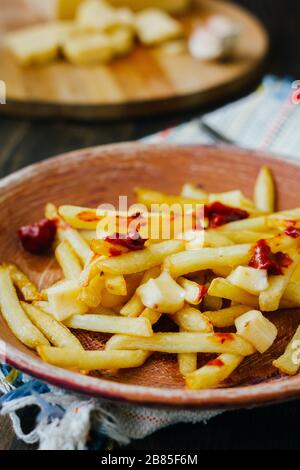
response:
[[[66,410],[59,418],[49,421],[45,414],[45,403]],[[38,406],[41,418],[33,431],[24,434],[17,411],[29,406]],[[155,410],[120,404],[107,400],[84,398],[75,394],[62,394],[52,387],[50,393],[31,395],[4,403],[1,414],[9,415],[16,435],[28,444],[39,442],[40,450],[84,450],[90,431],[97,430],[119,444],[131,439],[143,439],[158,429],[176,423],[207,422],[221,411]]]

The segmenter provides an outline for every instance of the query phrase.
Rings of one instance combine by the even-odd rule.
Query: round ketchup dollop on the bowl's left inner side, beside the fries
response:
[[[55,220],[43,219],[35,224],[20,227],[18,235],[24,250],[36,255],[51,248],[56,231]]]

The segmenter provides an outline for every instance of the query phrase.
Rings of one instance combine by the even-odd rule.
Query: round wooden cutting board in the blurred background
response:
[[[26,0],[0,0],[1,37],[47,15]],[[36,4],[35,4],[36,5]],[[187,33],[209,15],[224,14],[241,28],[235,55],[227,63],[204,63],[188,53],[168,56],[136,47],[109,65],[74,66],[64,61],[20,67],[0,47],[0,80],[7,104],[0,112],[76,119],[114,119],[170,112],[226,98],[258,74],[268,50],[262,25],[245,10],[227,2],[196,0],[182,17]]]

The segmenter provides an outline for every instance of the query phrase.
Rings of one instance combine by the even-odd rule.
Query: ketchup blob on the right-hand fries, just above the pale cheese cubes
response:
[[[288,268],[293,261],[289,255],[282,253],[272,253],[266,240],[259,240],[255,247],[249,266],[255,269],[265,269],[268,274],[280,276],[283,268]]]

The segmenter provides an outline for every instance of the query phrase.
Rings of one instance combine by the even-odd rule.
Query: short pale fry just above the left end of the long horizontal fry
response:
[[[152,336],[153,330],[148,318],[124,318],[105,315],[74,315],[65,325],[69,328],[96,331],[99,333]]]

